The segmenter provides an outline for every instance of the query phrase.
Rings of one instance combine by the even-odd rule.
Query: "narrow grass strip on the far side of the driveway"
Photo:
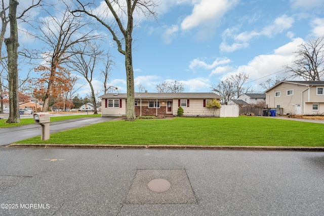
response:
[[[97,115],[57,116],[57,117],[51,117],[51,122],[68,120],[68,119],[86,118],[86,117],[101,117],[101,114],[97,114]],[[16,127],[16,126],[21,126],[21,125],[34,124],[34,119],[33,118],[20,119],[20,123],[14,123],[14,124],[5,124],[6,121],[7,121],[7,119],[0,119],[0,128]]]

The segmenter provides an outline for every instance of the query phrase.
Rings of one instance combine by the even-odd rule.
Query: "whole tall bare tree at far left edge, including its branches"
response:
[[[17,19],[22,19],[27,11],[34,7],[41,5],[41,0],[32,1],[29,8],[25,9],[19,16],[17,16],[17,6],[19,5],[17,0],[10,0],[9,6],[5,7],[4,1],[2,1],[1,11],[1,41],[6,32],[8,22],[10,22],[10,37],[5,39],[4,42],[8,52],[8,83],[9,83],[9,117],[6,123],[20,123],[19,116],[19,94],[18,94],[18,23]],[[6,10],[9,9],[8,17],[6,16]],[[0,49],[2,50],[2,42]],[[3,56],[0,56],[2,59]]]

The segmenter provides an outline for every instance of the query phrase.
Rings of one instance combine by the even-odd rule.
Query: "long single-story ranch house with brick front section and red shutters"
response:
[[[210,108],[206,103],[217,99],[218,94],[208,93],[135,93],[136,116],[176,116],[178,107],[184,110],[184,116],[212,116]],[[101,116],[126,116],[126,93],[108,93],[100,96],[102,98]],[[216,116],[220,116],[217,109]]]

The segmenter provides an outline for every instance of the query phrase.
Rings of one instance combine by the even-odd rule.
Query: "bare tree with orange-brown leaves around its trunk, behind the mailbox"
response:
[[[89,30],[90,20],[83,21],[81,18],[73,16],[68,9],[60,12],[59,16],[54,16],[46,9],[43,11],[47,17],[38,21],[39,25],[36,28],[38,33],[33,34],[33,36],[48,45],[46,48],[48,49],[47,52],[39,52],[49,65],[49,80],[42,110],[47,112],[55,78],[60,71],[63,71],[63,67],[60,65],[66,63],[75,55],[72,49],[73,46],[90,40],[96,40],[99,38],[99,35],[93,35],[93,29]],[[84,27],[88,28],[88,31],[84,32]]]

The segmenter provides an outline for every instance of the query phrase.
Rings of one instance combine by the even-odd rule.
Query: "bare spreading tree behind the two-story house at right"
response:
[[[305,81],[320,81],[324,74],[324,37],[310,40],[298,47],[294,65],[284,66],[287,72]]]

